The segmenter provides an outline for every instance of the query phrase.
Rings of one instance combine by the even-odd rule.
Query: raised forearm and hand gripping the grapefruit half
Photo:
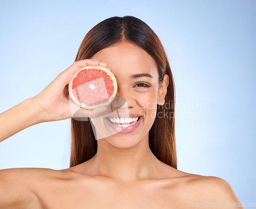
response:
[[[68,84],[74,73],[86,65],[108,66],[98,60],[87,59],[74,62],[65,71],[59,73],[38,95],[26,99],[15,107],[1,113],[0,142],[31,125],[71,118],[72,108],[76,110],[81,108],[69,99]],[[111,70],[111,68],[109,69]],[[81,117],[93,117],[102,110],[105,110],[105,108],[102,107],[95,110],[82,109],[79,113],[83,114]]]

